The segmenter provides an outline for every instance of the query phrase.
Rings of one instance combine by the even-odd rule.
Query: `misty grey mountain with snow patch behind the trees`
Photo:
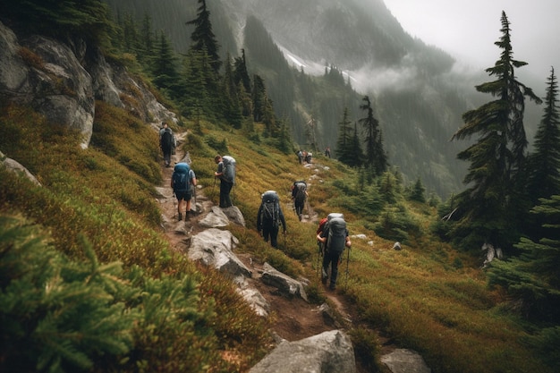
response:
[[[154,28],[167,30],[179,52],[188,48],[191,30],[184,23],[194,18],[197,0],[108,2],[139,20],[144,13],[150,14]],[[389,163],[398,167],[406,181],[420,177],[428,192],[442,198],[462,189],[465,165],[456,160],[456,154],[464,144],[449,143],[449,139],[462,124],[462,113],[471,107],[464,94],[467,85],[452,72],[454,59],[407,34],[382,0],[219,0],[208,2],[208,8],[222,55],[240,55],[242,48],[255,45],[251,38],[262,38],[245,32],[252,16],[262,22],[294,67],[293,72],[278,72],[276,62],[273,66],[259,60],[258,51],[249,48],[249,69],[265,75],[276,114],[290,119],[301,146],[310,146],[305,132],[313,116],[318,121],[315,145],[333,147],[344,107],[352,114],[352,122],[357,121],[363,116],[361,97],[368,94]],[[320,91],[313,99],[302,97],[301,89],[294,87],[295,72],[321,76],[327,66],[343,71],[357,92],[331,95]]]

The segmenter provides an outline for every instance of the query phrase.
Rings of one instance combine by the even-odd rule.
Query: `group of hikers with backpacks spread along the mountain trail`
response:
[[[173,131],[171,131],[166,123],[163,123],[159,131],[159,142],[164,154],[165,166],[169,167],[171,165],[171,155],[174,154],[174,147],[176,147],[176,140]],[[303,152],[300,150],[298,157],[300,157],[300,153],[303,156]],[[310,163],[311,154],[305,153],[305,157],[309,157],[309,161],[307,159],[305,161]],[[302,161],[300,158],[300,162]],[[214,162],[217,165],[216,172],[214,173],[215,182],[218,179],[220,181],[219,207],[232,207],[233,203],[230,193],[235,182],[235,159],[231,156],[221,156],[218,154],[214,157]],[[174,165],[171,188],[178,201],[177,212],[179,221],[182,220],[183,211],[185,221],[189,219],[191,199],[193,196],[196,198],[196,185],[196,175],[188,163],[179,162]],[[305,202],[309,196],[307,187],[307,182],[304,180],[293,182],[292,185],[293,208],[300,221],[303,216]],[[278,247],[280,224],[282,224],[285,238],[286,222],[282,207],[280,206],[280,197],[276,191],[266,191],[261,196],[261,203],[257,212],[257,230],[265,242],[270,241],[274,248]],[[318,258],[322,257],[323,259],[320,271],[321,282],[325,285],[329,283],[328,288],[335,290],[338,263],[341,261],[344,249],[350,248],[352,245],[342,214],[332,213],[321,219],[317,230],[317,242],[319,248]]]

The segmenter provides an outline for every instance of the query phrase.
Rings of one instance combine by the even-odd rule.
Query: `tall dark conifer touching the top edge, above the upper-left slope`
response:
[[[198,52],[205,51],[208,55],[210,66],[217,73],[222,65],[218,55],[219,45],[214,31],[212,31],[210,12],[206,6],[206,0],[199,0],[199,4],[197,18],[187,22],[188,25],[194,25],[194,31],[191,34],[191,49]]]

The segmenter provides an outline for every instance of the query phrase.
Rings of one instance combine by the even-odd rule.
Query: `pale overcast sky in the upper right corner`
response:
[[[403,29],[458,61],[482,70],[493,66],[501,50],[494,45],[505,11],[510,22],[513,58],[541,77],[554,66],[560,75],[560,0],[384,0]]]

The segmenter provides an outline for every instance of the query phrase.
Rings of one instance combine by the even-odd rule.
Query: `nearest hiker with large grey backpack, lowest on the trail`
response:
[[[342,214],[329,214],[327,223],[323,226],[322,232],[317,234],[317,241],[324,243],[323,268],[321,271],[321,282],[327,284],[328,267],[331,267],[330,284],[328,288],[335,290],[336,277],[338,276],[338,262],[345,248],[352,246],[346,222]]]

